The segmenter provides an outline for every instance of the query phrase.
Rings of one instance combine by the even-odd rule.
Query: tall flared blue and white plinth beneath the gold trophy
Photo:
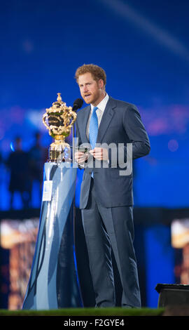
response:
[[[73,239],[76,171],[73,163],[44,165],[43,200],[25,310],[83,307]]]

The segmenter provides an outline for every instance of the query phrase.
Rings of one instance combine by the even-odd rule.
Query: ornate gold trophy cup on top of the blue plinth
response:
[[[77,114],[72,111],[72,107],[67,107],[62,101],[61,93],[57,93],[57,101],[52,103],[52,107],[46,109],[43,114],[43,124],[48,129],[48,133],[55,142],[51,143],[48,150],[48,161],[71,161],[71,149],[65,138],[71,133],[71,127],[76,121]]]

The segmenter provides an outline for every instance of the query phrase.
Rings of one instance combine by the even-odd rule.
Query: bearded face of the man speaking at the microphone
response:
[[[80,95],[87,104],[97,105],[104,98],[103,80],[95,81],[90,72],[78,77],[78,86]]]

